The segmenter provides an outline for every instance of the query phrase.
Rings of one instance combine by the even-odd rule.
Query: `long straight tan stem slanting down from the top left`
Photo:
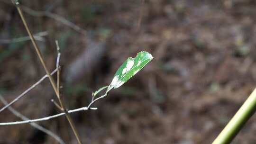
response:
[[[61,108],[63,108],[63,109],[65,110],[65,116],[66,116],[66,118],[67,118],[67,120],[68,120],[68,122],[69,122],[69,124],[70,124],[70,126],[71,126],[71,128],[72,128],[72,130],[73,130],[73,133],[74,133],[74,135],[75,135],[75,137],[76,137],[76,139],[77,139],[77,142],[78,142],[79,144],[82,144],[81,139],[80,139],[80,136],[79,136],[79,134],[78,134],[78,132],[77,132],[77,130],[76,130],[76,127],[74,126],[73,120],[71,119],[69,113],[67,113],[66,108],[64,107],[63,100],[60,98],[59,93],[58,93],[58,91],[57,91],[57,87],[56,87],[55,81],[53,80],[53,77],[50,75],[50,73],[49,73],[49,71],[48,71],[48,69],[47,69],[47,67],[46,67],[46,63],[45,63],[45,61],[44,61],[44,59],[43,59],[43,56],[42,56],[42,54],[41,54],[41,52],[40,52],[40,50],[39,50],[39,48],[38,48],[38,46],[37,46],[37,43],[36,43],[36,41],[35,41],[35,38],[34,38],[34,36],[33,36],[33,35],[31,34],[31,32],[30,32],[30,29],[29,29],[29,27],[28,27],[28,25],[27,25],[27,21],[26,21],[26,19],[24,18],[24,15],[23,15],[22,10],[21,10],[20,7],[19,7],[19,3],[17,4],[17,2],[16,2],[16,8],[17,8],[18,13],[19,13],[19,15],[20,15],[20,18],[22,19],[22,22],[23,22],[23,24],[24,24],[24,26],[25,26],[25,28],[26,28],[26,30],[27,30],[27,33],[28,33],[28,35],[29,35],[29,37],[30,37],[30,39],[31,39],[31,41],[32,41],[32,43],[33,43],[33,46],[34,46],[34,48],[35,48],[35,50],[36,50],[36,52],[37,52],[38,58],[40,59],[40,62],[42,63],[42,65],[43,65],[43,67],[44,67],[44,69],[45,69],[45,71],[46,71],[46,74],[48,75],[48,78],[49,78],[49,80],[50,80],[50,83],[51,83],[51,85],[52,85],[52,87],[53,87],[53,89],[54,89],[54,91],[55,91],[55,94],[56,94],[58,100],[59,100],[60,106],[61,106]]]

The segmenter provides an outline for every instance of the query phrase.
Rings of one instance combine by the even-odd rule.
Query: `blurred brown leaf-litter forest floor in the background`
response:
[[[61,92],[69,109],[87,106],[91,92],[108,85],[129,56],[139,51],[154,56],[98,101],[98,110],[72,114],[84,144],[210,144],[256,86],[255,0],[22,0],[22,5],[51,71],[59,41]],[[45,75],[24,36],[16,8],[0,0],[0,94],[7,101]],[[55,94],[46,79],[13,107],[29,118],[46,117],[59,113],[51,99]],[[0,113],[0,122],[18,120],[8,110]],[[76,144],[65,117],[38,124]],[[255,135],[253,116],[233,144],[254,144]],[[56,141],[26,124],[0,126],[0,144]]]

